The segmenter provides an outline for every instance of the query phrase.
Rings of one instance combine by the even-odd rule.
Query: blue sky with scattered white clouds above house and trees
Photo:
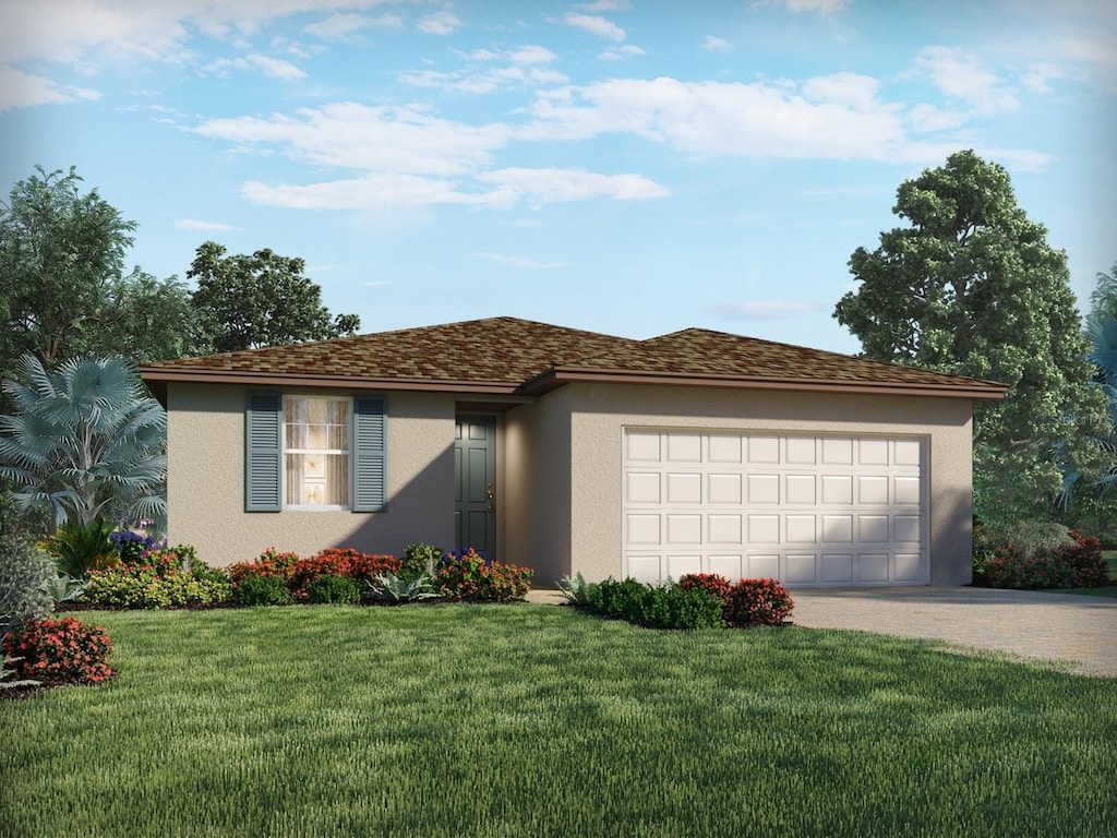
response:
[[[0,0],[0,188],[307,263],[362,331],[512,315],[856,352],[831,316],[906,178],[974,149],[1117,261],[1117,3]],[[468,336],[464,336],[468,340]]]

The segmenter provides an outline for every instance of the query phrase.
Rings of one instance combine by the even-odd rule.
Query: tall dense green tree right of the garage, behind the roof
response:
[[[1052,517],[1062,466],[1101,468],[1091,439],[1106,425],[1066,254],[1016,204],[1008,172],[972,151],[905,181],[892,212],[909,226],[853,253],[859,287],[834,317],[869,358],[1009,385],[975,406],[975,514]]]

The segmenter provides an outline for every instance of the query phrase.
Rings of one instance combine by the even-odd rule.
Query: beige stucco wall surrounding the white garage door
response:
[[[925,436],[929,581],[965,584],[971,579],[968,400],[572,383],[531,410],[513,412],[522,410],[521,446],[529,465],[519,488],[525,502],[516,511],[524,521],[515,524],[519,536],[509,547],[531,551],[541,584],[574,572],[590,580],[621,575],[621,436],[632,426]],[[569,432],[560,434],[564,422]],[[546,432],[545,441],[540,431]],[[509,449],[509,458],[515,454]],[[565,476],[558,474],[563,460],[570,464]],[[563,520],[570,521],[565,536],[556,532]]]

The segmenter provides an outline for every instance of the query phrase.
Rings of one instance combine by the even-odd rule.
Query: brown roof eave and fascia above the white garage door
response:
[[[851,379],[796,379],[767,375],[717,375],[708,373],[663,373],[630,370],[561,368],[547,370],[525,382],[521,392],[542,396],[571,381],[596,381],[610,384],[660,384],[676,387],[717,387],[738,390],[792,390],[800,392],[860,393],[873,396],[936,396],[942,398],[989,400],[1004,398],[1009,388],[974,380],[973,384],[932,384]]]

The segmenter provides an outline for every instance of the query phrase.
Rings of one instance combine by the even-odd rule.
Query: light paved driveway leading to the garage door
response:
[[[1117,677],[1117,599],[991,588],[792,588],[792,621],[938,638]]]

